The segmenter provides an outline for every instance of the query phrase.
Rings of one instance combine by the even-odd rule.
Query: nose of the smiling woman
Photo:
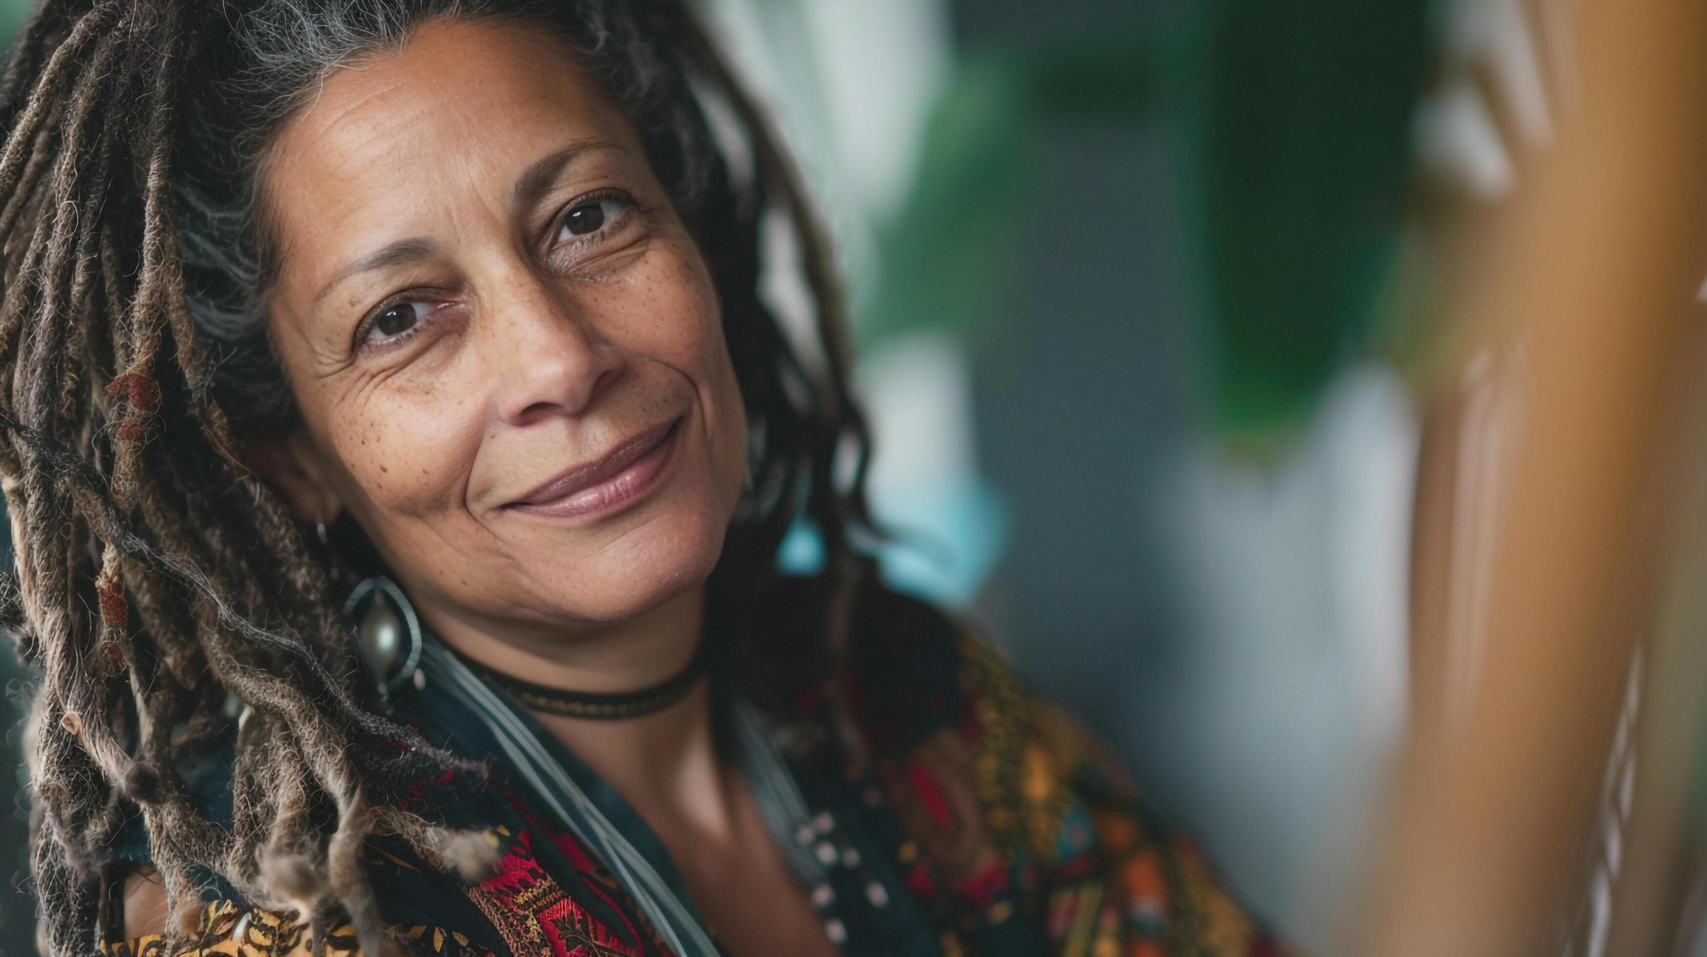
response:
[[[572,297],[529,276],[507,281],[507,295],[486,328],[493,350],[498,416],[531,425],[555,415],[580,415],[603,396],[625,367],[623,351],[591,322]]]

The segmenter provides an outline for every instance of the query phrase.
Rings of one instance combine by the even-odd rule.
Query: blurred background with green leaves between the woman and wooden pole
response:
[[[702,2],[838,239],[886,573],[983,626],[1265,921],[1328,950],[1407,718],[1477,682],[1524,355],[1466,346],[1436,290],[1552,142],[1569,10]],[[0,32],[24,9],[0,0]],[[780,232],[772,256],[787,312]],[[804,529],[782,554],[814,558]],[[1584,887],[1618,875],[1647,674]],[[26,679],[0,653],[7,774]],[[0,807],[0,952],[31,954],[26,810]],[[1675,925],[1707,902],[1692,841]],[[1598,901],[1562,952],[1605,952]]]

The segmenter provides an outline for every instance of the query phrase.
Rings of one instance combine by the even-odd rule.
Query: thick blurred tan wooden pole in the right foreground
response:
[[[1470,300],[1477,326],[1523,329],[1531,380],[1480,677],[1461,730],[1441,734],[1444,710],[1415,730],[1354,954],[1557,954],[1572,853],[1651,631],[1642,503],[1664,479],[1657,438],[1707,259],[1707,3],[1582,0],[1572,32],[1574,109]]]

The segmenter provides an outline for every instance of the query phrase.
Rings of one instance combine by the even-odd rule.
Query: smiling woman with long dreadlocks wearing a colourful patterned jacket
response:
[[[678,3],[46,0],[0,101],[51,954],[1267,947],[876,583],[823,242]]]

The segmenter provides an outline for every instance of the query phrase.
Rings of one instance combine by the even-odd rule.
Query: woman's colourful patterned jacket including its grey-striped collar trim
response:
[[[860,623],[836,677],[855,751],[784,751],[766,713],[739,698],[729,723],[766,827],[843,954],[1279,954],[1191,844],[1144,812],[1118,761],[1028,694],[992,647],[891,594],[869,597]],[[425,648],[422,681],[394,706],[490,774],[422,781],[406,803],[485,831],[497,870],[466,885],[374,836],[367,863],[391,938],[417,957],[717,955],[644,821],[531,713],[456,665]],[[799,701],[787,730],[831,734],[828,696]],[[225,943],[246,909],[210,887],[210,914],[224,916],[193,940],[108,950],[259,957]],[[294,918],[251,918],[237,937],[283,923]]]

